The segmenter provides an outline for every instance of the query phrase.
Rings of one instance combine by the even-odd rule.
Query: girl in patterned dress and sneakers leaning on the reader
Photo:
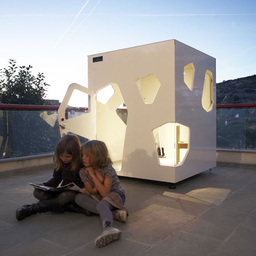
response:
[[[79,193],[75,202],[87,211],[100,215],[103,231],[94,245],[102,247],[119,240],[122,235],[120,230],[113,228],[113,219],[127,221],[125,192],[104,142],[90,140],[83,144],[82,160],[85,167],[80,169],[79,175],[90,195]]]

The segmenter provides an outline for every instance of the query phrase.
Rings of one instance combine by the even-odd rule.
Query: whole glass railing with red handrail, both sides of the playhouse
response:
[[[58,108],[0,104],[0,158],[54,152]],[[67,119],[80,112],[70,108]],[[217,105],[216,113],[217,148],[256,150],[256,104]]]

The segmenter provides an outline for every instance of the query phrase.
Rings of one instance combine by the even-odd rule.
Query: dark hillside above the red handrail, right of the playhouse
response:
[[[217,104],[256,103],[256,75],[216,84]]]

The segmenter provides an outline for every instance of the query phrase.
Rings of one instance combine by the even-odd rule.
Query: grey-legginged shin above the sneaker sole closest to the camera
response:
[[[113,227],[113,214],[112,210],[115,209],[112,204],[106,200],[101,200],[96,209],[98,214],[101,216],[103,231],[109,227]]]

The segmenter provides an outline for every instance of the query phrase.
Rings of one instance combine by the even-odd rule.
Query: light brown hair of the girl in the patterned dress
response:
[[[112,163],[106,144],[100,140],[89,140],[82,145],[82,152],[90,154],[90,164],[93,167],[105,167]]]

